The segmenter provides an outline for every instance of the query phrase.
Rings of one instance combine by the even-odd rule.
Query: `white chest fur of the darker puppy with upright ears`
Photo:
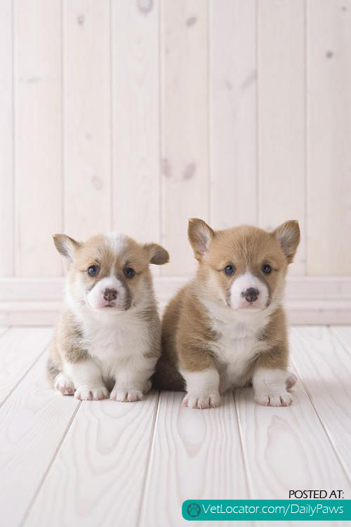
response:
[[[251,360],[263,350],[264,344],[258,334],[242,325],[217,328],[217,334],[215,353],[225,387],[245,384]]]

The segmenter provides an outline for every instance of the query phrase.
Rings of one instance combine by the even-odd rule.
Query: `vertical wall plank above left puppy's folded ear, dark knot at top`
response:
[[[112,0],[113,227],[159,241],[159,2]]]

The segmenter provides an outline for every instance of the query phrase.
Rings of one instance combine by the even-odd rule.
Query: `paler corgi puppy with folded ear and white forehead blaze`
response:
[[[112,389],[114,401],[140,401],[161,350],[149,264],[166,263],[168,252],[116,233],[85,243],[63,234],[53,240],[68,273],[46,368],[51,384],[81,400]]]

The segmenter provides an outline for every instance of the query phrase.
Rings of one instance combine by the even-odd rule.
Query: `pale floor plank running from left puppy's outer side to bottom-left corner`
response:
[[[0,510],[6,527],[18,527],[25,516],[79,405],[46,386],[45,359],[0,409]]]

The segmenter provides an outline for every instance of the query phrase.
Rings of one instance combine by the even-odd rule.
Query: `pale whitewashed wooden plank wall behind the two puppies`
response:
[[[350,122],[351,0],[1,0],[3,311],[57,299],[56,232],[161,242],[185,277],[199,216],[298,219],[291,292],[351,317]]]

